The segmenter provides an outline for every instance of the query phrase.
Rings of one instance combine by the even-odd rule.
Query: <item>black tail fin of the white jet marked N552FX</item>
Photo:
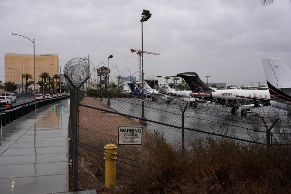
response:
[[[201,91],[202,93],[206,93],[215,91],[211,89],[208,85],[206,85],[204,82],[202,82],[198,74],[195,72],[179,73],[177,74],[177,76],[183,78],[186,81],[192,92]]]

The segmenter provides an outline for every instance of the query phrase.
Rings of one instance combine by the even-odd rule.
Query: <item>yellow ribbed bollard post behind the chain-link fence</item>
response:
[[[116,152],[117,146],[114,144],[107,144],[105,149],[105,187],[109,189],[115,189],[115,169],[116,169],[116,162],[115,159],[117,158],[114,154]]]

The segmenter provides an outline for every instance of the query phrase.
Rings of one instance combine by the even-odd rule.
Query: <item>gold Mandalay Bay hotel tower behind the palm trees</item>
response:
[[[35,55],[35,82],[39,80],[42,72],[48,72],[52,77],[59,75],[59,55]],[[5,53],[5,82],[22,83],[22,74],[31,74],[33,81],[33,55]],[[25,79],[23,80],[25,84]],[[38,89],[36,89],[38,90]]]

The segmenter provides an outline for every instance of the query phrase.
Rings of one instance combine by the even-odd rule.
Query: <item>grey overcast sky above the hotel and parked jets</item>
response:
[[[261,58],[281,58],[291,66],[291,3],[274,0],[213,1],[0,1],[0,78],[5,53],[59,54],[62,69],[75,57],[90,55],[116,65],[121,72],[138,71],[143,9],[152,17],[143,23],[145,78],[196,72],[203,81],[253,85],[266,82]],[[117,70],[112,73],[117,74]],[[122,76],[129,72],[124,72]],[[138,73],[135,73],[138,77]],[[265,84],[266,85],[266,84]]]

